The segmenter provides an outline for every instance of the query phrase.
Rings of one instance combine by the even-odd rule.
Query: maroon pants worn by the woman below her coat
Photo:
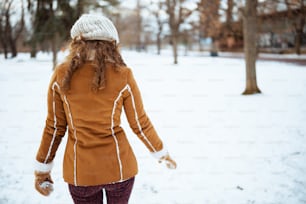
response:
[[[75,204],[102,204],[105,189],[107,204],[127,204],[133,189],[135,177],[123,182],[98,185],[74,186],[69,184],[69,191]]]

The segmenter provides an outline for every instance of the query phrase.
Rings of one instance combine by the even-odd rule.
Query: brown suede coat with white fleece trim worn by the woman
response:
[[[120,126],[122,108],[133,132],[153,156],[166,154],[163,143],[143,108],[140,91],[127,67],[105,69],[105,88],[91,90],[94,68],[90,63],[72,76],[71,89],[61,91],[68,64],[59,65],[48,90],[48,115],[36,156],[48,169],[68,127],[63,176],[76,186],[109,184],[137,174],[133,150]],[[39,170],[39,169],[38,169]]]

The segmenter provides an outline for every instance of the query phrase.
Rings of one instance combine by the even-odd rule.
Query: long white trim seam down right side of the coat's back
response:
[[[115,112],[116,112],[116,108],[117,108],[117,103],[119,101],[119,99],[121,98],[123,92],[128,89],[128,85],[126,85],[118,94],[117,98],[114,101],[114,106],[113,106],[113,110],[112,110],[112,117],[111,117],[111,130],[112,130],[112,136],[114,138],[115,144],[116,144],[116,152],[117,152],[117,159],[118,159],[118,163],[119,163],[119,170],[120,170],[120,181],[123,180],[123,173],[122,173],[122,161],[120,158],[120,148],[119,148],[119,143],[118,143],[118,139],[116,137],[115,134],[115,124],[114,124],[114,116],[115,116]]]

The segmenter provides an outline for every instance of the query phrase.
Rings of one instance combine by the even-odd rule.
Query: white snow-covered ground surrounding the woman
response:
[[[145,108],[178,163],[168,170],[130,131],[139,162],[131,204],[306,203],[306,69],[259,61],[262,94],[242,96],[242,59],[123,52]],[[55,191],[34,190],[33,161],[46,116],[50,56],[0,56],[0,203],[70,204],[62,179],[62,142]]]

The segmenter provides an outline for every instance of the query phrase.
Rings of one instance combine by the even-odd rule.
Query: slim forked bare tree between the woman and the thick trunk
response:
[[[169,16],[170,39],[172,43],[174,64],[177,64],[177,45],[180,34],[180,26],[192,14],[192,11],[183,6],[186,0],[166,0],[166,12]]]

